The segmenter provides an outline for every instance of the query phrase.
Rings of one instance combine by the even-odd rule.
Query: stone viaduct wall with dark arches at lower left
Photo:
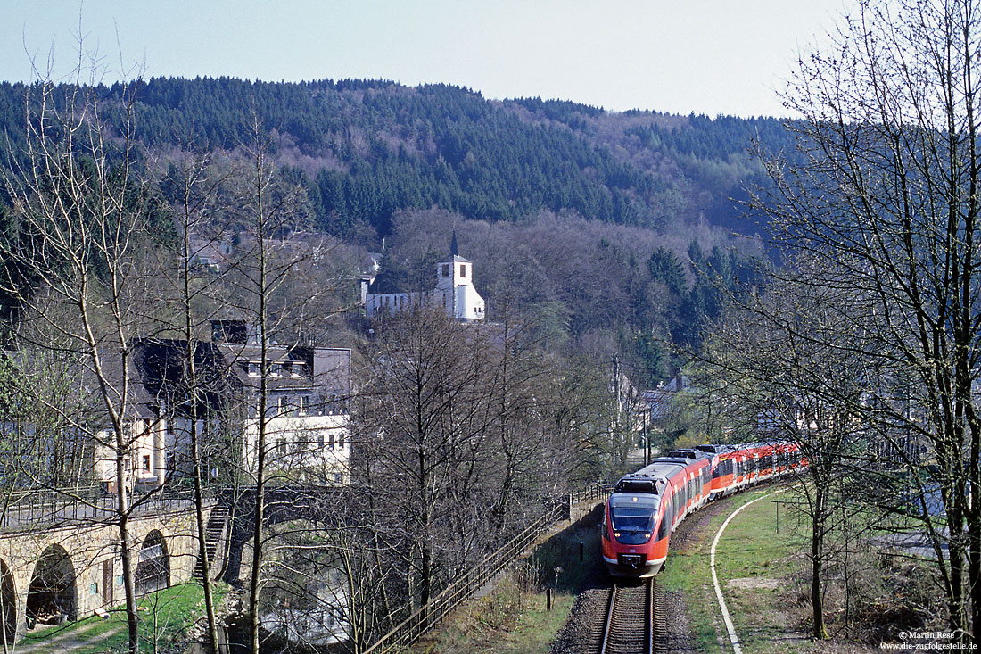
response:
[[[79,510],[53,500],[46,516],[31,506],[0,520],[0,638],[13,644],[35,623],[75,621],[125,602],[119,526],[111,499],[102,502]],[[205,519],[215,505],[207,502]],[[198,541],[187,495],[147,499],[129,532],[138,594],[191,579]]]

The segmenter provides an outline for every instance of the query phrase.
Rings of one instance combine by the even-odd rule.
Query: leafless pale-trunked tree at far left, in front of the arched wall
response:
[[[71,426],[112,452],[129,650],[136,652],[129,371],[133,338],[152,313],[141,270],[149,195],[135,172],[132,96],[125,93],[114,107],[122,120],[110,128],[98,87],[81,82],[28,87],[27,163],[5,179],[16,238],[6,242],[2,256],[31,285],[14,275],[0,284],[21,307],[20,338],[80,356],[85,383],[101,405],[105,422]]]

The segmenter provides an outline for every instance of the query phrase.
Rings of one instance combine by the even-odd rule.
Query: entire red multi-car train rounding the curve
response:
[[[615,576],[653,576],[664,567],[678,523],[710,499],[806,463],[795,443],[699,445],[674,450],[623,476],[603,513],[602,556]]]

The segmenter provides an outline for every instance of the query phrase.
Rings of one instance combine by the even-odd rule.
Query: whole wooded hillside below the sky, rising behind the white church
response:
[[[25,98],[39,90],[0,83],[8,170],[26,169]],[[52,108],[71,90],[57,87]],[[227,174],[258,128],[278,176],[303,194],[290,228],[343,244],[343,301],[369,251],[384,255],[387,288],[429,288],[455,229],[491,319],[533,316],[553,345],[622,357],[642,388],[677,371],[666,344],[697,346],[718,315],[714,279],[730,283],[747,272],[744,254],[763,252],[765,226],[741,204],[766,184],[751,143],[792,149],[775,119],[609,113],[442,84],[153,78],[91,91],[108,126],[121,133],[131,119],[155,238],[178,238],[166,214],[181,159],[207,154]],[[198,230],[232,239],[243,228],[230,212],[211,222]]]

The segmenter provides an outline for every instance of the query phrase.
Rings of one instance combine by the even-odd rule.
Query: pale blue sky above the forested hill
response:
[[[385,78],[611,110],[784,115],[777,91],[846,2],[8,0],[0,80],[31,79],[28,54],[43,68],[50,52],[64,76],[80,14],[106,82],[134,66],[146,77]]]

